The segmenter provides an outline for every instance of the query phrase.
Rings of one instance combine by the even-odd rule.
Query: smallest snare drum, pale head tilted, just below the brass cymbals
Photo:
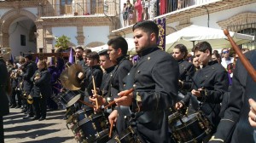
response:
[[[61,94],[59,97],[61,102],[66,105],[66,107],[72,106],[76,103],[81,97],[78,91],[67,91],[64,94]]]

